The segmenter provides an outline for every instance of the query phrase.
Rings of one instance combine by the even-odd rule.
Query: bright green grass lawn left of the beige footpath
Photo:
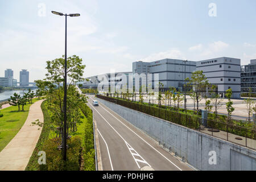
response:
[[[34,98],[32,103],[38,101]],[[18,106],[10,106],[5,109],[1,109],[0,113],[3,117],[0,118],[0,151],[15,137],[18,131],[22,128],[24,122],[27,119],[28,111],[31,104],[24,106],[24,111],[18,112]],[[22,107],[20,107],[22,108]]]

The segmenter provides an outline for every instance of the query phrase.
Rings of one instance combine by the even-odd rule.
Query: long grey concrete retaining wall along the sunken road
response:
[[[254,170],[256,151],[97,98],[157,142],[200,170]],[[214,164],[216,154],[216,164]],[[209,162],[210,160],[210,162]],[[211,163],[211,164],[210,164]]]

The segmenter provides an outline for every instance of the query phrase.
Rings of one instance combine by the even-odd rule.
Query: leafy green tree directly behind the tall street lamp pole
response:
[[[62,142],[64,141],[64,57],[63,55],[59,59],[47,61],[47,74],[44,79],[44,86],[47,88],[47,109],[50,111],[52,125],[60,129]],[[82,64],[79,56],[73,55],[67,58],[67,126],[73,121],[74,107],[86,101],[85,96],[79,94],[75,86],[76,82],[84,81],[82,78],[84,68],[85,65]]]

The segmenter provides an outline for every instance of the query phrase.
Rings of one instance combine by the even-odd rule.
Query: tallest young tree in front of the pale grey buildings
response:
[[[208,84],[208,80],[207,77],[205,77],[205,75],[203,74],[203,71],[195,71],[192,73],[189,84],[193,85],[193,90],[196,93],[196,110],[198,114],[199,102],[201,101],[201,99],[199,98],[200,92],[202,92],[205,88],[205,85]]]

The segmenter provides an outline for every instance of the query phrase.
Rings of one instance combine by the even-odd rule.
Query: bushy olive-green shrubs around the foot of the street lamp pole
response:
[[[43,146],[46,152],[46,164],[40,165],[42,171],[79,171],[81,138],[72,137],[67,140],[67,161],[64,162],[61,150],[57,147],[61,144],[61,138],[48,139]]]

